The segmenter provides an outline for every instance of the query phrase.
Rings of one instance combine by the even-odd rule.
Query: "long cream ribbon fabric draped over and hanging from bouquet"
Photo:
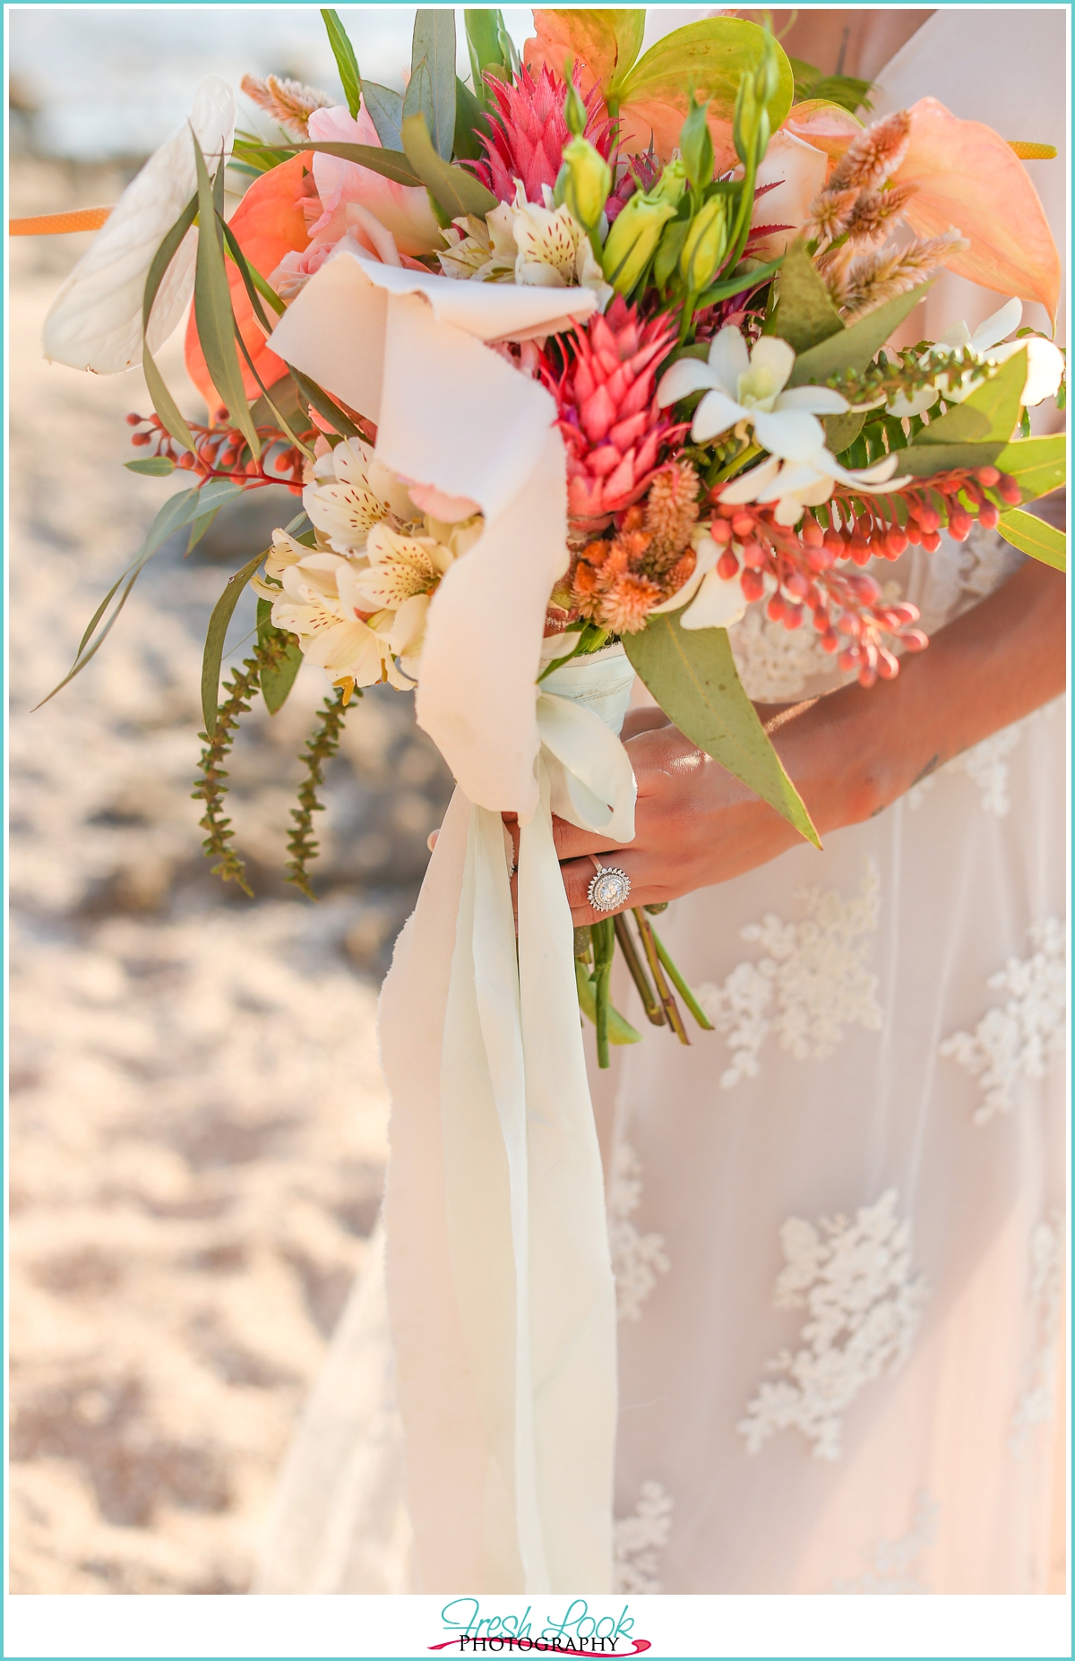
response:
[[[493,289],[480,314],[452,312],[457,287],[337,256],[272,336],[379,412],[382,460],[485,513],[430,608],[417,714],[459,789],[380,1000],[412,1590],[608,1591],[615,1284],[552,814],[633,837],[633,671],[611,648],[535,686],[557,649],[542,631],[565,563],[563,450],[548,394],[482,341],[553,326],[563,297]],[[488,585],[498,636],[460,654]],[[518,937],[502,809],[520,817]]]

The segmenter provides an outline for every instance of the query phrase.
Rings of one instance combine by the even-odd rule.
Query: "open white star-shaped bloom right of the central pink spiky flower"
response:
[[[788,462],[806,462],[824,447],[817,415],[841,415],[847,400],[829,387],[791,387],[794,350],[786,341],[763,334],[749,352],[746,341],[728,324],[713,337],[708,362],[681,357],[663,375],[656,400],[678,404],[691,392],[706,390],[695,410],[691,437],[706,443],[729,427],[754,429],[758,443]]]

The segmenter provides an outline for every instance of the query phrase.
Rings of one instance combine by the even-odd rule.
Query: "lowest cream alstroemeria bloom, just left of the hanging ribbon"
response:
[[[272,623],[299,636],[302,653],[317,663],[332,683],[349,676],[357,686],[387,679],[392,686],[409,683],[392,661],[392,649],[362,618],[356,616],[349,593],[354,566],[337,553],[311,553],[282,566],[282,588],[268,591]]]

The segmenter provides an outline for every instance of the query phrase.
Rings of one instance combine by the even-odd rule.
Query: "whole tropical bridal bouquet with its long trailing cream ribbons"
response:
[[[643,909],[630,930],[616,865],[598,862],[593,924],[572,945],[552,816],[631,840],[618,733],[638,674],[817,842],[728,628],[764,606],[871,686],[927,644],[884,585],[909,543],[934,550],[977,520],[1063,565],[1063,538],[1023,512],[1063,480],[1063,439],[1030,437],[1027,419],[1062,402],[1063,357],[1020,327],[1023,301],[1055,316],[1060,266],[1020,159],[1048,151],[929,96],[867,126],[849,108],[861,83],[819,83],[754,23],[709,17],[643,53],[645,12],[535,12],[520,61],[500,13],[470,10],[464,81],[454,17],[417,12],[400,95],[362,76],[322,12],[342,101],[248,76],[261,125],[236,131],[209,76],[189,125],[100,216],[45,347],[103,374],[141,364],[155,414],[130,417],[128,467],[186,473],[186,488],[68,679],[169,535],[189,527],[193,545],[241,492],[286,483],[296,517],[209,621],[196,794],[216,870],[244,882],[223,764],[251,698],[276,711],[302,656],[319,664],[329,696],[289,844],[306,892],[349,703],[379,681],[415,688],[459,791],[382,1000],[409,1462],[444,1463],[420,1385],[440,1369],[500,1473],[474,1478],[472,1508],[490,1561],[508,1553],[495,1583],[596,1586],[615,1352],[575,1002],[603,1065],[610,1041],[638,1036],[608,1000],[618,942],[650,1020],[686,1041],[678,992],[706,1022]],[[942,267],[1004,304],[974,332],[952,319],[915,342],[909,319]],[[191,292],[204,422],[153,355]],[[258,638],[221,691],[248,583]],[[517,872],[502,812],[520,824]],[[422,1272],[405,1244],[419,1236]],[[442,1536],[470,1480],[460,1468],[430,1500]]]

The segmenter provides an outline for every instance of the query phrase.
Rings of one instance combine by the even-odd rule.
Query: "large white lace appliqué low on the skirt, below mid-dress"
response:
[[[859,1390],[907,1357],[925,1299],[925,1281],[911,1272],[911,1218],[896,1214],[887,1189],[854,1219],[821,1218],[819,1227],[788,1218],[781,1227],[786,1267],[776,1277],[778,1309],[809,1311],[803,1349],[781,1350],[736,1428],[749,1453],[778,1430],[798,1428],[814,1458],[839,1458],[842,1415]]]

